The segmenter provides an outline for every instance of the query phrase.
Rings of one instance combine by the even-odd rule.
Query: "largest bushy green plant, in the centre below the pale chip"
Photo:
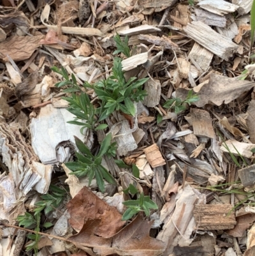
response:
[[[149,78],[136,80],[136,77],[131,77],[126,82],[121,61],[120,58],[116,57],[113,60],[112,75],[92,86],[103,107],[98,121],[103,121],[115,110],[121,110],[125,114],[135,116],[133,102],[139,102],[147,95],[142,86]]]

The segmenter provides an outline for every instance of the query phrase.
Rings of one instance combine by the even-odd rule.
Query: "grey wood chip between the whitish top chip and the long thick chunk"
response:
[[[202,9],[194,9],[196,13],[196,19],[201,21],[208,26],[225,27],[226,17],[211,13],[210,11],[205,11]]]

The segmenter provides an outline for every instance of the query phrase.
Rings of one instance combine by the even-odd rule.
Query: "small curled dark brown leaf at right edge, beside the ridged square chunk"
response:
[[[227,233],[233,237],[242,237],[244,236],[245,230],[251,227],[252,223],[255,222],[255,214],[244,212],[242,215],[237,216],[237,225],[231,230],[228,230]]]

